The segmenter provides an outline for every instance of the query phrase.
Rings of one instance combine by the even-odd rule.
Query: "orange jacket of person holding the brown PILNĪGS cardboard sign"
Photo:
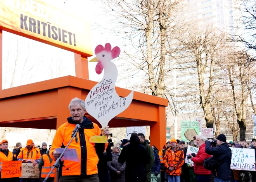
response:
[[[26,163],[39,163],[41,158],[40,150],[38,148],[33,148],[28,150],[28,148],[21,148],[21,152],[17,156],[17,160],[26,160]]]

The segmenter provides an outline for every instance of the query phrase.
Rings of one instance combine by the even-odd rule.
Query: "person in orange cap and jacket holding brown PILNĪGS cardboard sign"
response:
[[[33,163],[33,166],[39,163],[40,158],[40,150],[35,148],[32,139],[28,139],[26,147],[21,148],[21,152],[17,156],[17,160],[22,160],[23,163]],[[21,178],[20,182],[35,182],[35,179]]]

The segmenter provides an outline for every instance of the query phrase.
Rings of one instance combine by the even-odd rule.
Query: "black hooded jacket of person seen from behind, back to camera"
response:
[[[140,145],[138,136],[130,138],[130,144],[124,146],[119,158],[119,163],[125,163],[125,181],[127,182],[145,182],[145,167],[149,162],[147,150]]]

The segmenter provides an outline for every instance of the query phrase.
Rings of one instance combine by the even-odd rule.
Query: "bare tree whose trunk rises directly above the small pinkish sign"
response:
[[[199,102],[204,111],[207,128],[213,128],[214,123],[211,102],[214,95],[213,88],[217,84],[218,69],[215,63],[218,60],[222,40],[222,35],[213,27],[200,29],[197,28],[197,24],[187,27],[178,37],[184,55],[184,59],[178,60],[178,63],[183,64],[185,69],[190,66],[197,71]]]

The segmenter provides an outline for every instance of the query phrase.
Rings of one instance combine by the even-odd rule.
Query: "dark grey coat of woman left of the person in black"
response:
[[[112,153],[112,161],[107,162],[111,182],[125,182],[125,163],[121,164],[118,162],[119,155],[120,153]],[[117,175],[117,171],[120,171],[121,173]]]

